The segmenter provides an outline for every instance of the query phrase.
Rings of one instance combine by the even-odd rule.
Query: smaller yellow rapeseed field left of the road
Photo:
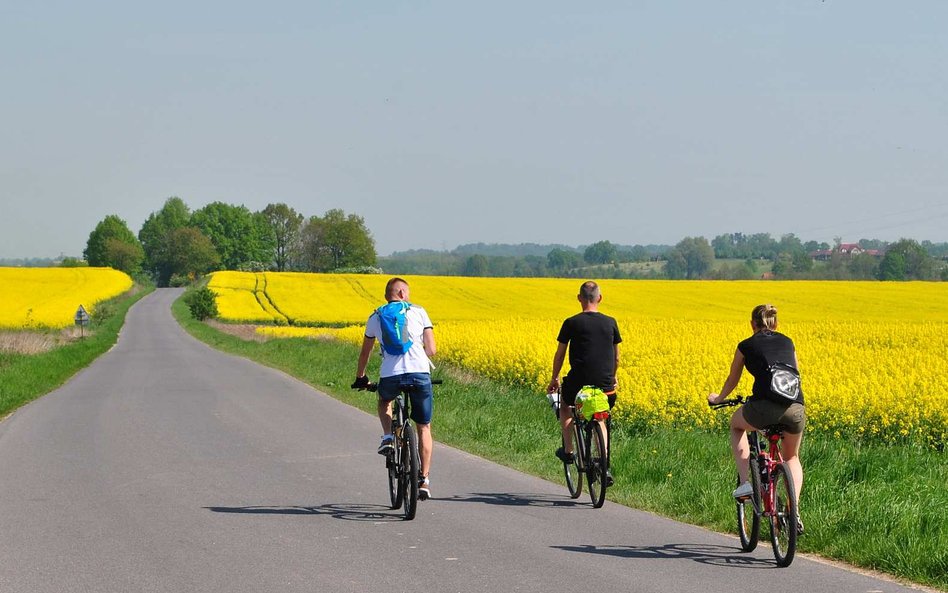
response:
[[[132,279],[111,268],[0,268],[0,286],[0,328],[59,329],[73,324],[79,305],[92,314]]]

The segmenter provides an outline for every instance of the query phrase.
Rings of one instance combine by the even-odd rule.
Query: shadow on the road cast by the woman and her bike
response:
[[[735,568],[776,568],[772,560],[754,558],[738,548],[714,544],[666,544],[663,546],[552,546],[567,552],[604,554],[617,558],[647,560],[693,560],[701,564]]]

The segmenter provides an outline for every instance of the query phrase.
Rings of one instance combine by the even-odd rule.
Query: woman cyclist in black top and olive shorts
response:
[[[731,371],[721,387],[721,393],[708,394],[708,403],[716,404],[727,398],[741,380],[746,367],[754,376],[752,395],[731,416],[731,450],[741,484],[734,491],[735,498],[744,498],[753,493],[748,480],[750,447],[747,444],[748,430],[761,430],[772,424],[783,427],[783,444],[780,447],[784,461],[793,477],[799,508],[800,490],[803,488],[803,467],[800,465],[800,443],[806,426],[803,407],[803,392],[798,390],[792,399],[777,393],[772,386],[772,365],[783,363],[799,368],[793,341],[777,332],[777,309],[772,305],[758,305],[751,312],[751,337],[737,345]],[[803,523],[797,525],[803,531]]]

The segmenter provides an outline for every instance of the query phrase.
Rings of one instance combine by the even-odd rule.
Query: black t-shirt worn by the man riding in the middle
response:
[[[569,344],[569,381],[610,390],[616,384],[615,345],[622,341],[616,320],[584,311],[563,322],[556,340]]]

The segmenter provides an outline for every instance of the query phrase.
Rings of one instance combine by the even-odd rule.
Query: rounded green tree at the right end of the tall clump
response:
[[[332,209],[313,216],[302,231],[304,267],[312,272],[374,266],[375,240],[361,216]]]

